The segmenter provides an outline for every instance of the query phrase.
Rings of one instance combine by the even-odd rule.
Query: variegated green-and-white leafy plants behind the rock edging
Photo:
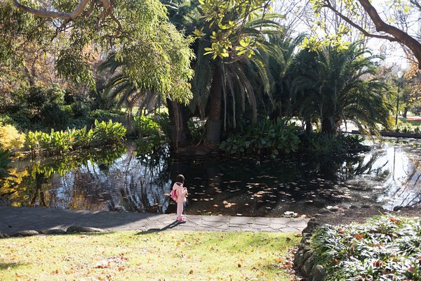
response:
[[[328,280],[421,280],[421,219],[380,216],[366,225],[323,226],[312,237]]]

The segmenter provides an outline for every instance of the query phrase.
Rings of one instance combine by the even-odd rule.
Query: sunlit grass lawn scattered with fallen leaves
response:
[[[291,280],[293,233],[164,231],[0,240],[0,280]]]

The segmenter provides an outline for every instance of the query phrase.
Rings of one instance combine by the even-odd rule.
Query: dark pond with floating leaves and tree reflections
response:
[[[389,139],[353,157],[189,159],[139,157],[135,145],[12,163],[14,206],[174,213],[172,180],[184,174],[186,214],[312,216],[322,207],[421,204],[421,141]]]

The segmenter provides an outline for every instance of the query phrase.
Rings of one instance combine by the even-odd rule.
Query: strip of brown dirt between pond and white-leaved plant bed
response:
[[[380,207],[356,208],[356,209],[338,209],[335,211],[325,211],[318,214],[316,218],[321,224],[340,225],[349,223],[365,223],[366,218],[379,216],[381,214],[390,214],[392,216],[421,217],[421,206],[405,207],[397,211],[389,211]]]

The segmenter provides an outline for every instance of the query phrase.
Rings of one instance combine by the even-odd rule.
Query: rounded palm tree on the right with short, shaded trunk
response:
[[[304,51],[307,52],[307,51]],[[326,47],[316,53],[302,75],[293,79],[293,93],[301,93],[305,118],[317,117],[321,132],[335,133],[340,122],[354,122],[363,131],[377,131],[377,124],[389,125],[391,105],[387,104],[387,84],[375,77],[378,59],[354,43],[337,51]]]

